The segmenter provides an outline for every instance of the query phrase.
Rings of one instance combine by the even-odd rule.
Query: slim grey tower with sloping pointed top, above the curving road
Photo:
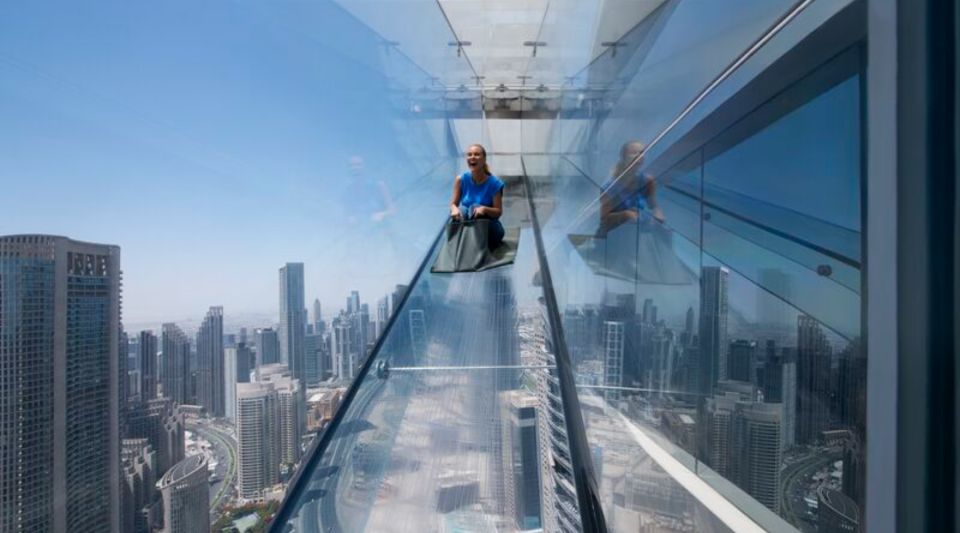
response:
[[[197,396],[210,416],[224,408],[223,308],[211,307],[197,331]]]

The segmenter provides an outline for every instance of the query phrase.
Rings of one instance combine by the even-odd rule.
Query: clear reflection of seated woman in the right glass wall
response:
[[[653,218],[663,222],[663,212],[657,205],[656,182],[653,176],[639,172],[643,148],[640,141],[627,142],[620,148],[620,160],[613,168],[613,176],[600,193],[601,234],[639,220],[644,208],[650,210]]]

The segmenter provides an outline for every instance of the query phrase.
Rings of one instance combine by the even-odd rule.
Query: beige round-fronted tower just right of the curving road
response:
[[[263,497],[280,481],[277,394],[265,383],[237,384],[237,495]]]

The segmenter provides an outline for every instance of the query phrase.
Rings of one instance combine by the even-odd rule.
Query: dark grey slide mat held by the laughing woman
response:
[[[482,272],[513,263],[520,245],[520,228],[505,228],[503,242],[494,250],[487,248],[489,233],[489,220],[450,222],[430,272]]]

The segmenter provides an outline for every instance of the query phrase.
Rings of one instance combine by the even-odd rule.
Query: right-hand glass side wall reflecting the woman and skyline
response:
[[[593,472],[612,531],[855,529],[863,5],[727,7],[658,7],[525,158]]]

